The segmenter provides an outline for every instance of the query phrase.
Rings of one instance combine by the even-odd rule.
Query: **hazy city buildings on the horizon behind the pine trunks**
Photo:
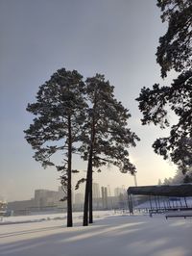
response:
[[[35,213],[60,213],[66,212],[67,202],[62,200],[65,196],[61,187],[57,191],[35,190],[34,196],[28,200],[3,201],[6,206],[6,215],[20,216]],[[72,192],[73,212],[84,210],[84,191]],[[115,188],[110,192],[110,187],[93,183],[93,209],[115,210],[128,209],[128,195],[124,187]]]

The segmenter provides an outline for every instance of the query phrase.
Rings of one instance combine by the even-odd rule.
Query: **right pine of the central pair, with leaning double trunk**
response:
[[[127,127],[131,116],[113,94],[113,87],[100,74],[87,78],[86,96],[88,108],[83,129],[81,152],[87,161],[84,194],[84,225],[93,222],[92,215],[92,173],[93,168],[114,165],[122,172],[135,172],[129,160],[128,148],[135,146],[138,137]],[[89,210],[89,218],[88,218]]]

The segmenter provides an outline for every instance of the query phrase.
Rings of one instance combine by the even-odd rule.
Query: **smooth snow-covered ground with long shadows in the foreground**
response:
[[[192,218],[94,215],[83,227],[76,213],[72,228],[63,214],[4,218],[0,256],[192,256]]]

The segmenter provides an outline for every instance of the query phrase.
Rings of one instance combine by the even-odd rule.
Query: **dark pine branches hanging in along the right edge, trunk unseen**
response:
[[[170,158],[185,173],[192,166],[192,2],[158,0],[157,6],[162,11],[162,21],[168,22],[156,52],[161,76],[166,77],[171,69],[180,74],[171,86],[155,84],[153,89],[143,88],[136,100],[143,114],[142,124],[153,122],[163,129],[170,126],[169,109],[178,116],[170,136],[157,139],[153,147],[157,154]]]

